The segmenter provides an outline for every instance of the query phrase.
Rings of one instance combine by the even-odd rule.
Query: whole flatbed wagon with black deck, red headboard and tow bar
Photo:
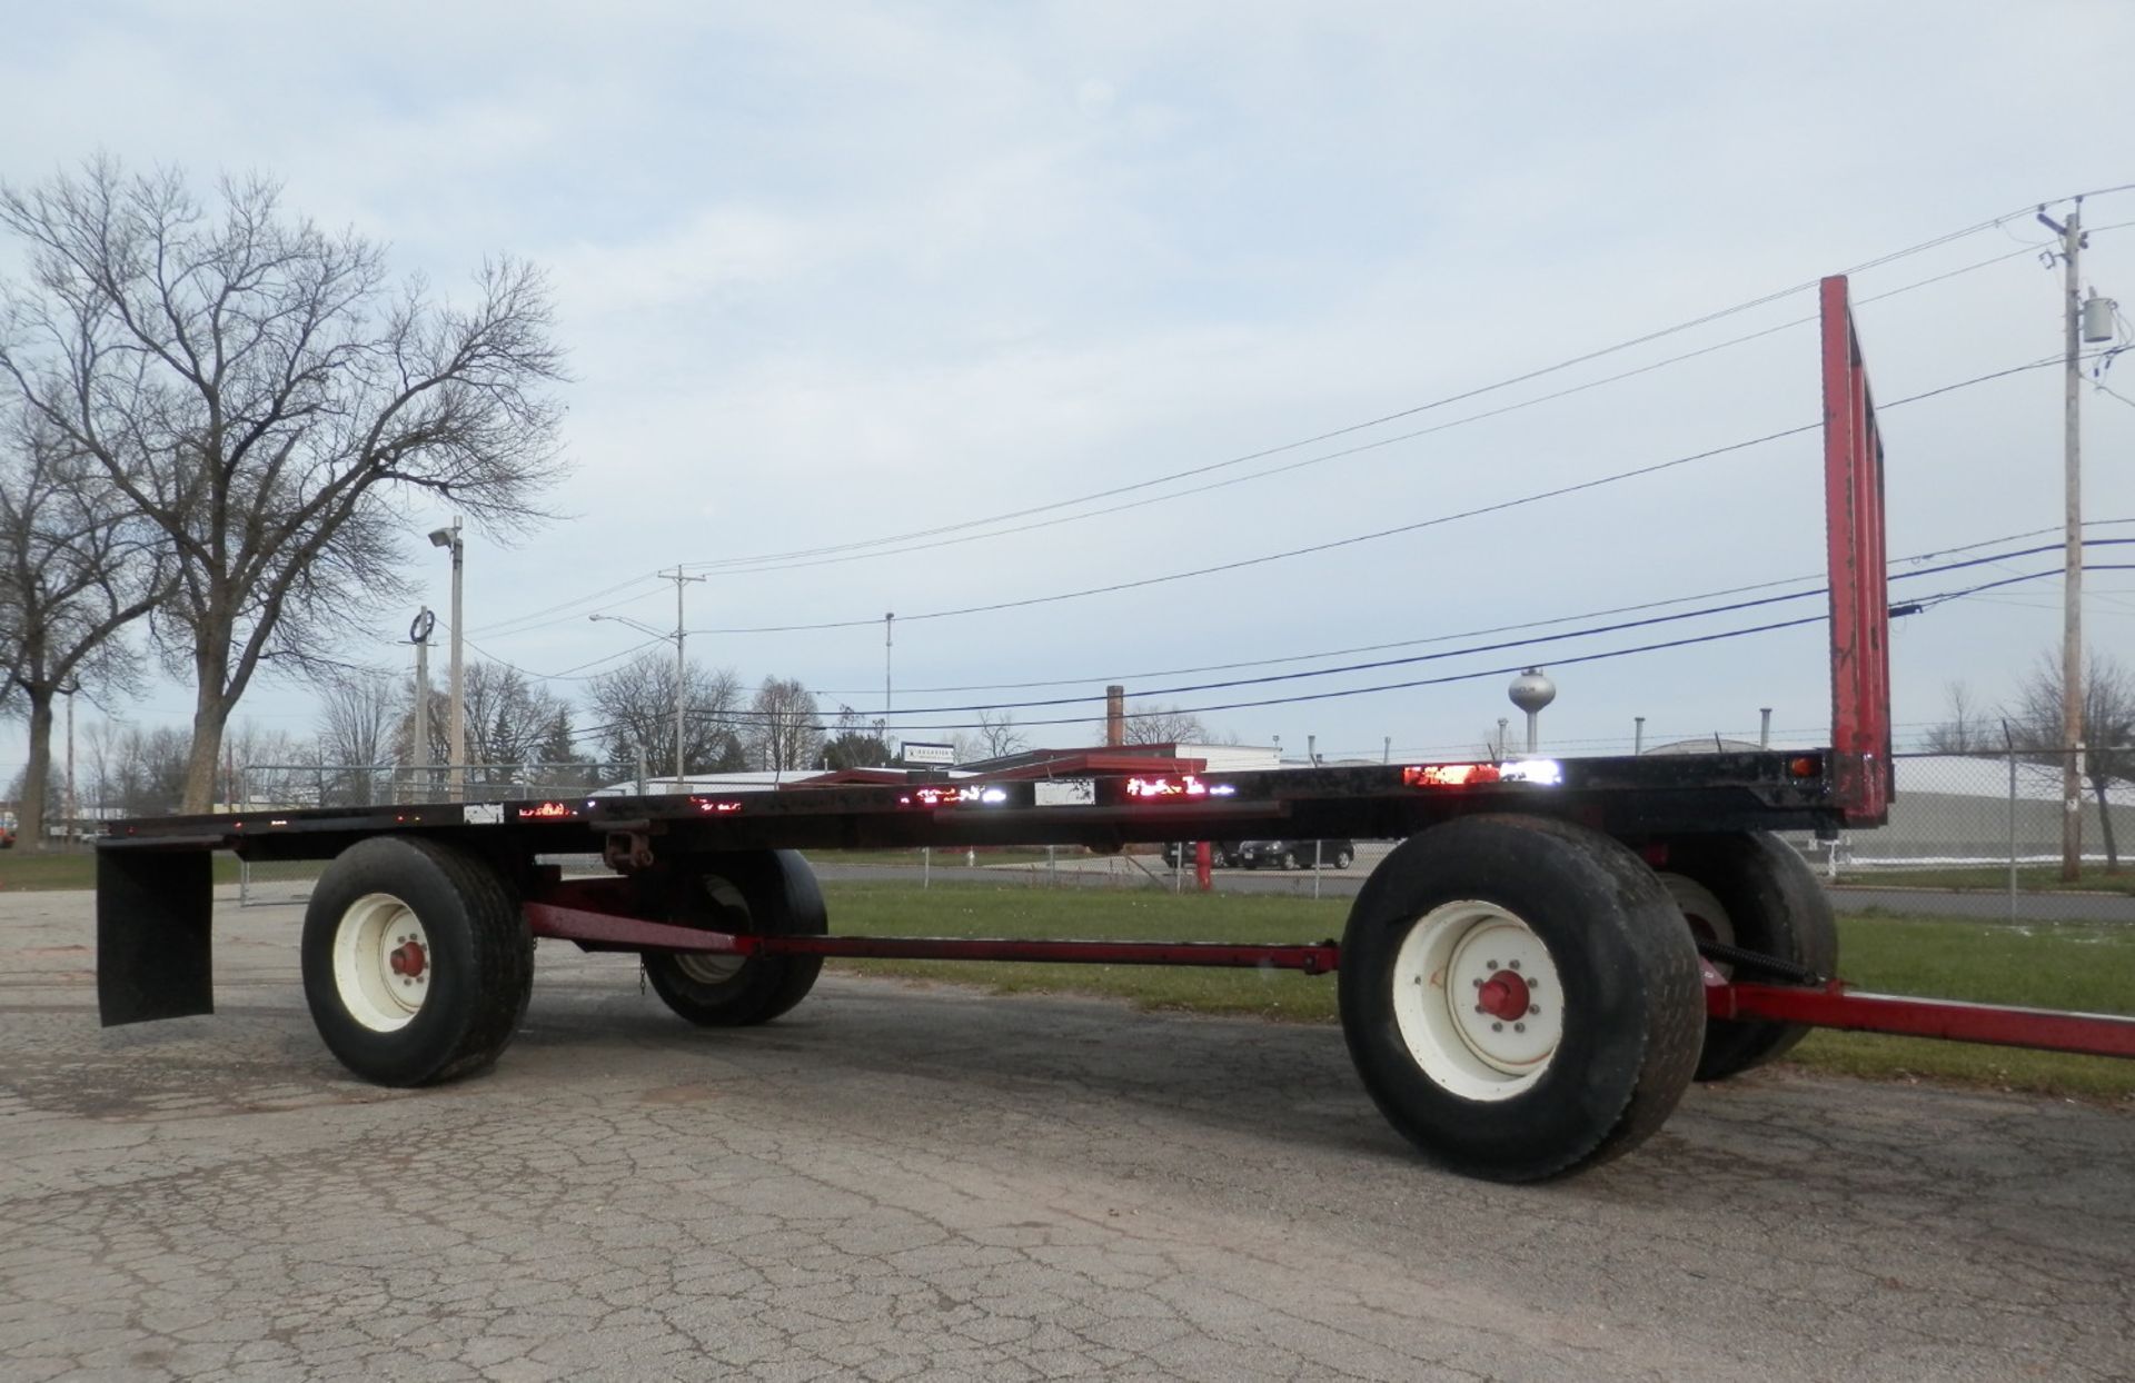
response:
[[[1810,1027],[2135,1056],[2135,1018],[1862,995],[1830,901],[1774,832],[1877,826],[1892,790],[1875,410],[1823,282],[1832,745],[1661,758],[1091,773],[784,792],[425,802],[113,822],[96,852],[105,1024],[213,1012],[209,858],[327,860],[301,935],[320,1037],[357,1076],[476,1074],[519,1029],[534,939],[636,952],[705,1027],[769,1022],[826,956],[1334,973],[1364,1088],[1430,1159],[1499,1180],[1638,1146],[1691,1080]],[[1401,839],[1341,941],[839,937],[801,852]],[[564,879],[540,856],[598,854]]]

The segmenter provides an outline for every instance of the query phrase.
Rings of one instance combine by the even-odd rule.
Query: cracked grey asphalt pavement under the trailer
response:
[[[1759,1071],[1546,1187],[1341,1033],[826,975],[696,1031],[544,943],[489,1076],[348,1078],[295,907],[96,1027],[0,894],[0,1379],[2126,1379],[2135,1116]]]

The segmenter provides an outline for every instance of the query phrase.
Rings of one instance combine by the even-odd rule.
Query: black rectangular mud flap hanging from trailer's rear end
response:
[[[105,1027],[213,1014],[205,849],[96,852],[96,1010]]]

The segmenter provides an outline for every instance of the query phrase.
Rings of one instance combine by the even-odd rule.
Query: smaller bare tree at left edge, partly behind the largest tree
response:
[[[117,491],[34,418],[0,429],[0,711],[30,721],[19,841],[43,849],[53,702],[137,687],[117,634],[167,593]]]

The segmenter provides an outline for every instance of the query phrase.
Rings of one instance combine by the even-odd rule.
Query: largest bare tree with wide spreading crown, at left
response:
[[[186,807],[267,659],[303,668],[401,593],[399,514],[427,491],[493,531],[557,476],[549,290],[493,260],[472,301],[391,284],[380,245],[290,218],[265,179],[213,205],[115,160],[0,186],[30,250],[0,299],[0,384],[94,461],[177,566],[156,610],[194,681]]]

